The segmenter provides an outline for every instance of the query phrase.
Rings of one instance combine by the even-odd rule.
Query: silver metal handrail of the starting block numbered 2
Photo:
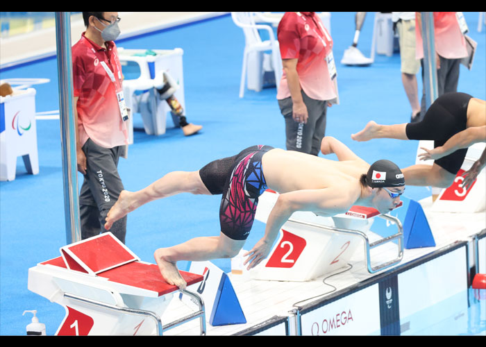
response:
[[[362,232],[360,230],[341,229],[341,228],[335,228],[335,227],[332,227],[332,226],[323,226],[323,225],[319,225],[319,224],[315,224],[315,223],[310,223],[310,222],[307,222],[307,221],[299,221],[299,220],[296,220],[296,219],[288,219],[288,221],[291,222],[291,223],[297,223],[297,224],[301,224],[301,225],[305,225],[305,226],[310,226],[312,228],[317,228],[319,230],[324,229],[324,230],[329,230],[329,231],[332,231],[332,232],[340,232],[340,233],[343,233],[343,234],[351,234],[351,235],[356,235],[356,236],[361,237],[364,240],[364,255],[366,256],[368,272],[369,273],[376,273],[376,272],[381,271],[383,269],[387,269],[390,266],[393,266],[394,264],[398,264],[399,262],[401,262],[401,260],[403,258],[403,226],[401,224],[401,221],[399,219],[397,219],[396,217],[390,216],[389,214],[378,214],[378,217],[381,217],[383,219],[387,219],[388,221],[391,221],[392,223],[394,223],[396,225],[396,227],[398,228],[399,231],[396,234],[391,235],[389,237],[384,237],[383,239],[378,239],[375,242],[372,242],[371,244],[369,242],[369,239],[368,239],[368,236],[366,235],[366,233]],[[387,242],[391,242],[394,239],[398,239],[398,247],[399,247],[399,251],[398,251],[396,258],[394,258],[393,260],[390,260],[389,262],[379,264],[378,266],[371,266],[371,255],[370,255],[371,248],[374,248],[376,246],[380,246],[380,245],[385,244]]]

